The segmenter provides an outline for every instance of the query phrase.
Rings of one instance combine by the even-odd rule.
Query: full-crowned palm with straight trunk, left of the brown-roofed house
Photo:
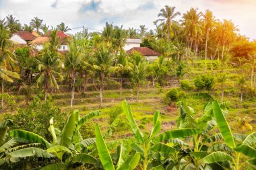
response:
[[[113,57],[110,54],[109,48],[106,44],[102,44],[95,54],[94,69],[98,73],[98,78],[100,81],[100,108],[102,107],[103,100],[103,89],[104,89],[104,79],[113,69]]]

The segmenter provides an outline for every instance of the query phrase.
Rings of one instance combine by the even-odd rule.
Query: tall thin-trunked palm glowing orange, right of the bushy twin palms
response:
[[[212,15],[212,11],[207,9],[203,15],[204,28],[205,28],[205,68],[206,68],[206,59],[207,59],[207,42],[209,38],[209,33],[214,26],[215,17]]]

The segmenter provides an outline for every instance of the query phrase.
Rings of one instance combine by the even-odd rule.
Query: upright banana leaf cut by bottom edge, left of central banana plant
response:
[[[106,170],[115,170],[110,154],[108,153],[108,148],[106,148],[106,143],[100,132],[98,124],[95,125],[95,135],[96,135],[96,146],[98,150],[98,155],[100,156],[100,161]]]

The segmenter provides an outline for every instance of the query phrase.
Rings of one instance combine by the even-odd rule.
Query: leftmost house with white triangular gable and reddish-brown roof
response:
[[[31,42],[34,39],[36,39],[36,36],[34,36],[31,32],[27,32],[27,31],[16,32],[10,38],[11,41],[21,46],[27,45],[29,42]]]

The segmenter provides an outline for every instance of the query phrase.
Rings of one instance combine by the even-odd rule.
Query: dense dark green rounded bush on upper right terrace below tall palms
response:
[[[195,78],[194,84],[198,90],[206,89],[210,91],[214,86],[215,79],[212,75],[199,75]]]

